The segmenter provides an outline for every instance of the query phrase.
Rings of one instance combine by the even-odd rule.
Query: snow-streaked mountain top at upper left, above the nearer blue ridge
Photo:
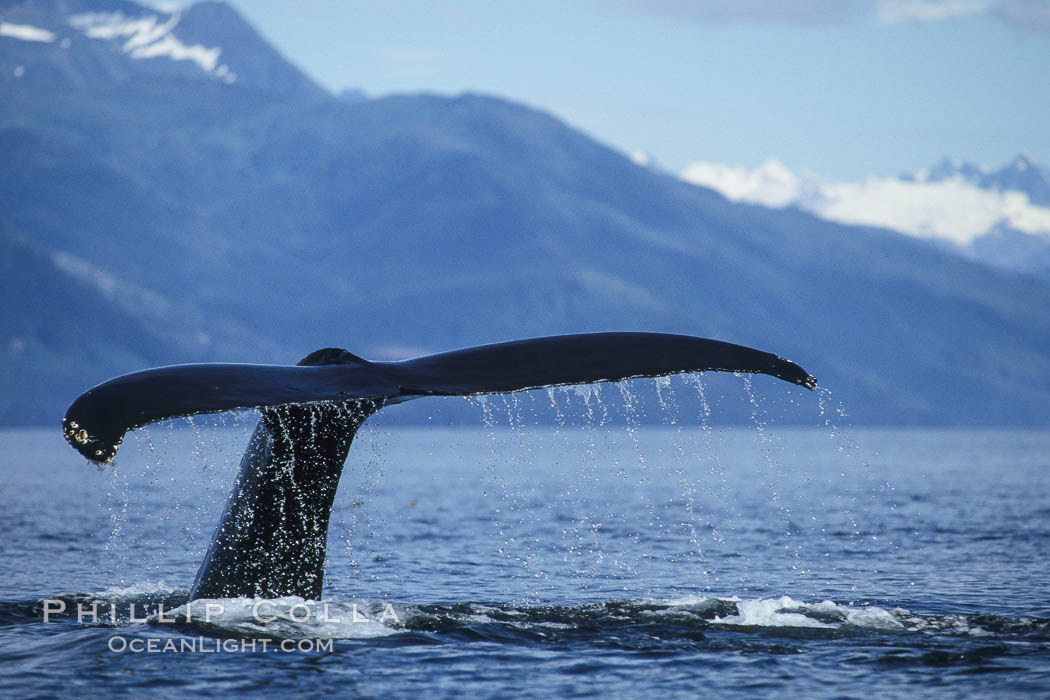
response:
[[[322,93],[222,2],[16,0],[0,7],[0,83],[96,88],[158,79]]]

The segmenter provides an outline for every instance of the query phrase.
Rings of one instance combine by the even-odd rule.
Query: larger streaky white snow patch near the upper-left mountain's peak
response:
[[[175,36],[181,14],[166,18],[158,15],[128,17],[124,13],[82,13],[69,17],[69,25],[91,39],[121,41],[121,49],[133,59],[169,58],[191,61],[202,70],[227,83],[237,77],[230,67],[219,63],[223,49],[202,44],[187,45]]]

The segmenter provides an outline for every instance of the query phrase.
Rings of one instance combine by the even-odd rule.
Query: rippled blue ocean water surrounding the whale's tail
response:
[[[727,428],[656,389],[659,426],[607,420],[615,385],[380,412],[320,601],[187,606],[251,412],[103,468],[0,431],[0,696],[1050,695],[1050,434],[849,428],[826,395]]]

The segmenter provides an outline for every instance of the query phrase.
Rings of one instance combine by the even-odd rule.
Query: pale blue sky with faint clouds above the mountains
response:
[[[327,87],[472,90],[678,171],[1050,164],[1050,0],[232,0]]]

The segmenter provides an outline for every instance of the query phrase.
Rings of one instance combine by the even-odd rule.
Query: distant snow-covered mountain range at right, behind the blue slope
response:
[[[836,183],[777,161],[693,163],[681,178],[734,201],[798,207],[949,245],[985,262],[1050,276],[1050,172],[1018,155],[1000,168],[945,158],[900,177]]]

